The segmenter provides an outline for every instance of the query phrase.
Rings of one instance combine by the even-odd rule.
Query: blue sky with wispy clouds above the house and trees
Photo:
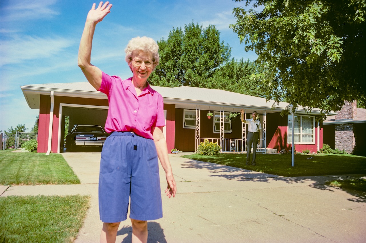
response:
[[[25,124],[31,128],[39,110],[30,109],[20,86],[26,84],[85,82],[77,65],[79,41],[93,0],[0,1],[0,130]],[[91,63],[110,75],[131,76],[124,48],[136,36],[167,39],[173,27],[194,20],[213,24],[220,40],[231,46],[231,57],[254,61],[238,36],[228,28],[235,23],[231,0],[111,1],[113,7],[97,24]]]

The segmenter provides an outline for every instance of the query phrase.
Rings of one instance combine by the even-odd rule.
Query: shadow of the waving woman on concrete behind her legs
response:
[[[159,223],[156,222],[147,222],[147,230],[149,235],[147,237],[147,242],[160,242],[167,243],[165,240],[164,229],[160,227]],[[117,235],[126,235],[121,243],[131,242],[132,240],[132,226],[123,227],[117,232]]]

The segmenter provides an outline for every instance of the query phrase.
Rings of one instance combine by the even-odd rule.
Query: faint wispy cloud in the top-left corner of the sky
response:
[[[55,3],[56,0],[9,1],[7,5],[1,8],[0,20],[1,22],[29,21],[59,15],[59,12],[51,9],[51,6]]]

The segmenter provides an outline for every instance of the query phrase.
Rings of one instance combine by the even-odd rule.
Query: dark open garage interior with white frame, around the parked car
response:
[[[90,106],[90,105],[74,105],[60,104],[60,153],[68,152],[66,150],[66,136],[70,133],[74,125],[94,125],[101,126],[104,129],[107,119],[108,106]],[[79,147],[79,146],[77,146]],[[73,149],[76,152],[100,152],[100,146],[80,146]]]

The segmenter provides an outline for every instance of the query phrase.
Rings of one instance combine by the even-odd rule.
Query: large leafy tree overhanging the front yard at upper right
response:
[[[267,99],[324,113],[365,102],[365,0],[251,2],[263,10],[235,8],[230,28],[265,65]]]

